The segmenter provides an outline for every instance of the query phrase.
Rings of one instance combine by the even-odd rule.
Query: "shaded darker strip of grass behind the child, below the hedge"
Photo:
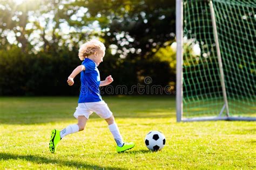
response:
[[[106,103],[116,118],[175,117],[173,96],[108,96]],[[74,121],[73,97],[0,97],[0,124],[41,124]],[[99,118],[96,114],[91,119]]]

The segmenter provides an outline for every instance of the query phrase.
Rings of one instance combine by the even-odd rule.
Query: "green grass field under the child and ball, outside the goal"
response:
[[[136,146],[117,153],[107,123],[93,114],[82,132],[49,152],[52,129],[77,123],[77,97],[0,97],[0,169],[255,169],[255,122],[176,123],[172,96],[103,97],[120,132]],[[165,134],[162,151],[144,144]]]

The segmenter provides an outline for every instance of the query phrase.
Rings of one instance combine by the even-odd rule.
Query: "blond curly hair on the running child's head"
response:
[[[79,59],[83,61],[85,58],[87,58],[87,56],[99,50],[102,50],[102,51],[106,50],[106,47],[102,42],[95,39],[87,41],[85,44],[83,44],[79,48],[79,53],[78,53]]]

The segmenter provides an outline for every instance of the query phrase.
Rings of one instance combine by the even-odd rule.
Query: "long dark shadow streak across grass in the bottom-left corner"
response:
[[[0,153],[0,160],[9,160],[9,159],[23,159],[26,161],[30,161],[36,164],[56,164],[59,166],[68,166],[68,167],[76,167],[76,168],[88,168],[88,169],[122,169],[117,167],[108,167],[108,166],[97,166],[92,164],[85,164],[83,162],[76,162],[76,161],[65,161],[65,160],[57,160],[57,159],[50,159],[45,157],[40,157],[37,155],[17,155],[17,154],[10,154],[10,153]],[[13,167],[15,168],[15,167]]]

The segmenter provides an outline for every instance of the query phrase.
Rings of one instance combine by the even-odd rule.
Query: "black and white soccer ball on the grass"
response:
[[[159,151],[165,145],[165,136],[159,131],[151,131],[146,135],[145,144],[149,150]]]

